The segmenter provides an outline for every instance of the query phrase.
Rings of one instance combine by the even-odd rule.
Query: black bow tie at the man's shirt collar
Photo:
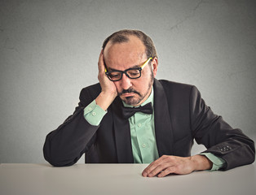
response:
[[[145,114],[152,114],[152,103],[149,102],[148,104],[144,106],[139,106],[139,107],[125,107],[122,106],[122,115],[124,116],[125,119],[129,119],[131,116],[135,115],[136,112],[143,112]]]

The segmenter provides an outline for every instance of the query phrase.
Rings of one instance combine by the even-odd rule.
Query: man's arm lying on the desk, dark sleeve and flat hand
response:
[[[207,148],[205,153],[223,159],[227,170],[254,162],[254,141],[239,129],[231,128],[222,117],[214,115],[205,105],[199,91],[192,87],[190,98],[191,129],[196,142]],[[192,171],[211,169],[213,163],[205,155],[192,157],[162,156],[151,163],[143,176],[166,176],[170,173],[188,174]]]

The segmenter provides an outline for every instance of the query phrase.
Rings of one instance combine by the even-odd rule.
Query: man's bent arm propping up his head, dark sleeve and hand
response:
[[[74,114],[46,136],[44,157],[53,166],[71,166],[77,163],[95,141],[95,132],[99,125],[90,124],[90,121],[85,119],[85,107],[95,100],[96,104],[106,111],[117,96],[115,85],[105,75],[103,51],[99,54],[98,67],[100,88],[99,85],[94,85],[83,89]]]

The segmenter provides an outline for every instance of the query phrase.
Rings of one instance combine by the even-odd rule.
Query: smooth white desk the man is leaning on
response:
[[[146,164],[1,164],[1,195],[192,194],[255,195],[255,165],[230,171],[144,178]],[[207,192],[207,193],[206,193]]]

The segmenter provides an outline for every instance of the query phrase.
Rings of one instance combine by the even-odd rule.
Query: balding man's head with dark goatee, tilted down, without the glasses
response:
[[[143,103],[151,93],[157,74],[157,51],[151,38],[141,31],[121,30],[104,41],[103,50],[108,72],[139,68],[152,58],[140,71],[139,78],[132,79],[123,73],[121,80],[113,81],[122,101],[132,106]]]

